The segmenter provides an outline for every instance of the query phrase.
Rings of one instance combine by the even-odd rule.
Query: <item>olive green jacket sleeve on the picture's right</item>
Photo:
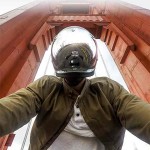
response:
[[[150,144],[150,104],[130,94],[117,82],[108,79],[109,99],[121,124]]]

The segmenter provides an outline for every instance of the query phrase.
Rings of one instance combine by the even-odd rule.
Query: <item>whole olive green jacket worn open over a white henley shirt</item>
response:
[[[85,122],[106,150],[120,150],[125,128],[150,143],[150,104],[106,78],[87,79],[78,94],[63,79],[44,76],[0,100],[0,136],[36,116],[30,150],[46,150],[64,130],[78,105]]]

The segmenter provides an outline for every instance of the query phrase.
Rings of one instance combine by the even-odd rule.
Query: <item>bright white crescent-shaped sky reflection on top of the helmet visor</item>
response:
[[[73,43],[87,44],[92,51],[92,57],[94,58],[96,56],[97,47],[94,36],[82,27],[72,26],[63,29],[58,36],[54,38],[51,47],[52,57],[56,59],[57,54],[62,50],[63,47]]]

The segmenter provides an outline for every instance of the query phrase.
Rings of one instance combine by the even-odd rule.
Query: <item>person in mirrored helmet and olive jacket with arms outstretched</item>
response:
[[[150,104],[107,77],[93,35],[63,29],[51,46],[56,76],[46,75],[0,100],[0,136],[36,116],[30,150],[121,150],[125,129],[150,143]]]

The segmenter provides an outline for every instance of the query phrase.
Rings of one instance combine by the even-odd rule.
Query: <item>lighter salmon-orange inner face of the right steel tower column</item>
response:
[[[112,32],[112,35],[108,34],[110,32]],[[144,69],[144,66],[134,55],[134,52],[136,52],[134,48],[135,44],[131,44],[132,42],[129,42],[130,45],[128,45],[127,42],[120,36],[120,34],[117,34],[112,29],[109,30],[109,28],[104,28],[102,30],[101,39],[107,44],[114,60],[118,64],[118,67],[124,76],[130,91],[140,96],[143,100],[149,101],[149,85],[144,85],[143,89],[141,89],[142,83],[147,82],[146,78],[149,77],[149,72],[148,70]],[[135,62],[133,60],[135,60]],[[128,62],[130,62],[130,64]],[[130,66],[132,66],[132,68],[130,68]],[[135,71],[137,72],[136,74],[134,73]],[[144,76],[146,78],[143,78]],[[142,82],[140,82],[140,80],[136,81],[136,78],[141,78]],[[147,94],[145,94],[144,91],[147,91]]]

